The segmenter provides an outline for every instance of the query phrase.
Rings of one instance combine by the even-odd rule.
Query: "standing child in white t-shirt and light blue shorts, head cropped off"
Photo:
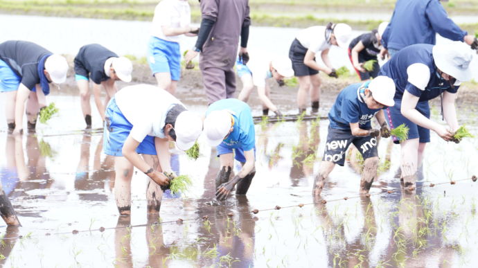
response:
[[[154,9],[148,63],[158,87],[173,94],[181,78],[182,35],[196,36],[199,28],[191,24],[191,8],[187,0],[162,0]]]

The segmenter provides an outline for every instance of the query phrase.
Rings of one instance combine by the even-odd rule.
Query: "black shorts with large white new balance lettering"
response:
[[[350,130],[328,127],[326,150],[322,161],[344,166],[348,146],[355,145],[365,159],[378,157],[377,138],[372,136],[352,136]]]

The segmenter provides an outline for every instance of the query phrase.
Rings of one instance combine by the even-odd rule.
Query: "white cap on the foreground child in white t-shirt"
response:
[[[193,111],[182,111],[175,123],[176,145],[186,151],[193,147],[202,132],[202,119]]]

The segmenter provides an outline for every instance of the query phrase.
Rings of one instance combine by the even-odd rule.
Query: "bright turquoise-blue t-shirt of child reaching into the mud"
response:
[[[254,119],[252,118],[249,105],[236,98],[218,100],[209,105],[206,116],[211,113],[211,111],[220,110],[229,111],[234,118],[233,131],[221,144],[229,148],[241,148],[245,151],[254,149],[256,144],[256,132],[254,130]]]

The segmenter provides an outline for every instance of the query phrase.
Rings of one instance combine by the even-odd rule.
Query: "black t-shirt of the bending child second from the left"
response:
[[[109,79],[105,73],[105,62],[110,57],[118,57],[100,44],[82,46],[75,57],[75,73],[91,78],[95,84]]]

